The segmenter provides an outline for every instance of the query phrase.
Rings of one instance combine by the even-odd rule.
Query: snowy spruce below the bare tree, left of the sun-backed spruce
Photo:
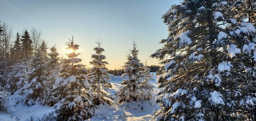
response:
[[[43,41],[31,58],[28,83],[24,90],[25,103],[29,106],[42,101],[43,90],[47,84],[48,68],[47,46]]]

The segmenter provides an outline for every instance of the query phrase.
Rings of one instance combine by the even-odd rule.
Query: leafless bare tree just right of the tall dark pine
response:
[[[40,46],[40,43],[42,43],[42,32],[41,29],[35,29],[32,27],[30,30],[30,38],[33,41],[33,47],[34,47],[34,52],[38,49],[38,46]]]

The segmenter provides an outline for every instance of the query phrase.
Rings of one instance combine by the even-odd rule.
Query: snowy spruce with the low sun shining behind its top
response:
[[[52,95],[57,98],[58,103],[55,104],[55,114],[58,121],[83,121],[93,116],[95,106],[92,103],[89,91],[89,83],[85,76],[87,69],[84,65],[79,64],[79,54],[76,50],[79,45],[72,40],[67,43],[67,49],[72,50],[63,60],[59,78],[55,81],[52,89]]]

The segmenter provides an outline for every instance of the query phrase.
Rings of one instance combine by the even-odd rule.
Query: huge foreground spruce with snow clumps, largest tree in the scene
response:
[[[230,37],[230,7],[225,0],[183,0],[163,15],[169,35],[151,55],[165,65],[157,77],[157,119],[248,119],[244,109],[253,108],[255,95],[247,92],[253,76],[245,73],[253,70],[234,43],[244,41]]]

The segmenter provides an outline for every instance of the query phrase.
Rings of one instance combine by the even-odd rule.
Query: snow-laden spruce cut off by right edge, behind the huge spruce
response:
[[[241,1],[230,1],[230,11],[225,12],[225,14],[230,14],[229,20],[232,26],[229,27],[228,32],[230,38],[230,44],[235,45],[241,50],[240,54],[237,55],[238,58],[234,59],[231,63],[239,63],[246,71],[241,73],[241,75],[247,78],[244,88],[247,88],[244,100],[248,100],[252,97],[251,95],[256,94],[256,1],[255,0],[241,0]],[[231,49],[231,48],[230,48]],[[256,120],[256,105],[254,103],[245,103],[246,107],[242,109],[241,115],[247,115],[249,119]],[[252,107],[253,108],[248,108]]]

